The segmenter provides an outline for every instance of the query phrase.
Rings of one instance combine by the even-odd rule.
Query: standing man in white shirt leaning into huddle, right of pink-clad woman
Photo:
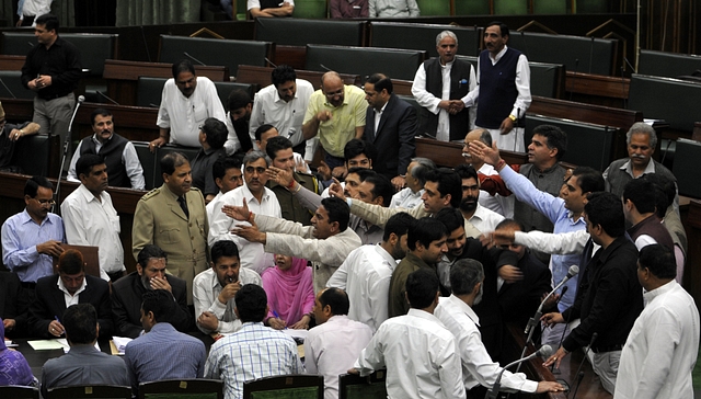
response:
[[[388,318],[390,280],[397,261],[406,255],[406,237],[414,221],[403,212],[390,217],[382,242],[350,252],[326,283],[349,293],[348,318],[368,324],[372,332]]]

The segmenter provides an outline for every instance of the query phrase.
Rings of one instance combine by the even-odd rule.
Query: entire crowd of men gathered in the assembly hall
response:
[[[42,62],[80,65],[55,22],[36,19],[43,46],[23,69],[37,91],[35,115],[72,101],[71,84]],[[129,274],[122,247],[129,240],[106,190],[142,189],[143,178],[112,114],[95,110],[94,135],[81,140],[68,173],[80,186],[60,204],[61,216],[51,212],[53,184],[33,176],[24,210],[1,230],[10,270],[0,280],[4,331],[71,345],[44,366],[43,392],[80,384],[136,392],[145,381],[205,377],[222,379],[233,399],[246,380],[306,371],[323,375],[325,397],[337,398],[340,374],[386,368],[391,398],[483,397],[499,363],[512,360],[507,324],[525,328],[567,280],[542,303],[535,327],[535,342],[556,349],[544,365],[585,347],[617,398],[689,397],[699,314],[678,284],[687,240],[674,175],[651,158],[654,129],[634,124],[629,157],[604,173],[565,171],[558,161],[566,134],[548,125],[533,129],[529,163],[506,164],[499,148],[526,149],[528,62],[507,47],[504,24],[490,24],[484,41],[475,72],[456,59],[455,34],[438,35],[439,57],[420,67],[412,88],[422,126],[382,73],[359,89],[331,71],[314,91],[278,66],[253,100],[231,93],[225,113],[214,83],[189,61],[175,62],[150,147],[200,150],[192,162],[181,152],[160,160],[163,184],[134,214]],[[32,124],[3,127],[11,140],[35,133]],[[462,141],[466,164],[437,168],[415,157],[414,136],[424,129]],[[306,160],[314,138],[324,161],[312,173]],[[87,274],[83,254],[65,243],[97,247],[97,273]],[[281,320],[263,288],[274,255],[311,269],[314,306],[301,323]],[[281,330],[309,326],[302,365]],[[207,354],[193,334],[217,341]],[[111,335],[134,339],[124,361],[94,349]],[[501,385],[564,390],[509,372]]]

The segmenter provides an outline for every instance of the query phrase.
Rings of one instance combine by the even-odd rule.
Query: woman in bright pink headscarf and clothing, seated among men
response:
[[[309,328],[314,288],[307,260],[277,254],[275,267],[267,269],[261,278],[271,308],[266,324],[276,330]]]

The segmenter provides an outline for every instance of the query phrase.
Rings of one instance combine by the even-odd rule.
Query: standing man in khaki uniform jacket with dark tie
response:
[[[209,227],[205,200],[192,187],[187,158],[172,152],[161,159],[163,185],[143,195],[136,205],[131,250],[137,258],[146,244],[168,255],[168,272],[187,283],[187,304],[193,303],[193,278],[207,269]]]

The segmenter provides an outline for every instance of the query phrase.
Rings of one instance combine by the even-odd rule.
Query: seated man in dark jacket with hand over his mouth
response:
[[[180,332],[191,331],[193,319],[187,308],[187,285],[183,280],[165,273],[166,263],[163,250],[146,246],[137,258],[136,272],[112,285],[112,314],[116,335],[137,338],[143,333],[140,321],[141,298],[153,289],[168,292],[175,304],[169,315],[170,323]]]

